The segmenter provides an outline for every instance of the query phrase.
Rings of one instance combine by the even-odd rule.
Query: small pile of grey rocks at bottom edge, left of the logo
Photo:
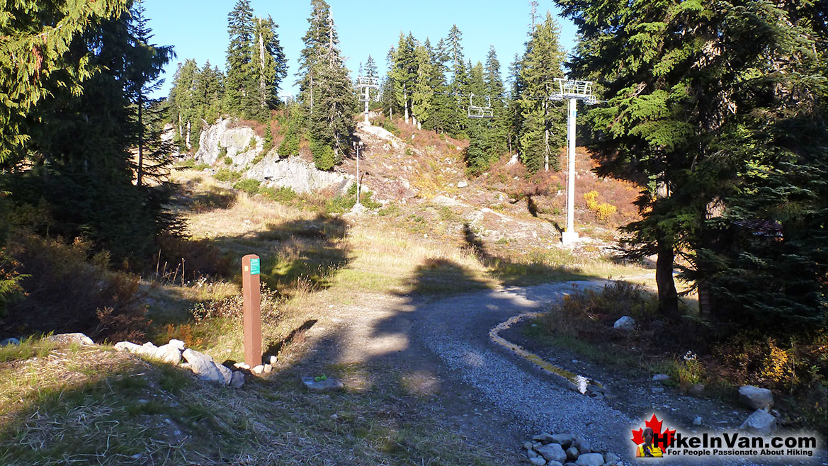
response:
[[[548,432],[523,442],[530,464],[536,466],[620,466],[619,455],[593,449],[580,435]]]

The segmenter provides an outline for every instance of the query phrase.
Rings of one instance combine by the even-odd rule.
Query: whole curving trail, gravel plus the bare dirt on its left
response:
[[[541,431],[584,435],[594,447],[629,461],[628,435],[641,420],[608,401],[573,392],[488,336],[494,325],[560,299],[575,286],[601,284],[561,282],[438,299],[363,294],[351,300],[356,304],[332,305],[309,337],[330,363],[400,371],[414,392],[438,396],[464,434],[513,451],[515,462],[527,435]]]

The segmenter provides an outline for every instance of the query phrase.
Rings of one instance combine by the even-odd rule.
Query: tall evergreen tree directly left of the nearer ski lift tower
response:
[[[566,139],[566,112],[556,108],[548,96],[556,90],[555,78],[562,78],[564,50],[558,40],[559,27],[550,12],[535,26],[520,65],[520,126],[518,142],[521,160],[529,171],[558,170],[556,155]]]

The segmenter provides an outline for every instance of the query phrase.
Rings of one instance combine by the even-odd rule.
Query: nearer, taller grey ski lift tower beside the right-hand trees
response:
[[[567,156],[568,173],[566,175],[566,231],[561,235],[561,243],[571,244],[578,239],[575,232],[575,116],[578,113],[576,103],[583,100],[591,105],[597,103],[592,95],[592,81],[556,78],[558,92],[551,94],[552,100],[569,100],[569,118],[567,118],[567,140],[569,155]]]

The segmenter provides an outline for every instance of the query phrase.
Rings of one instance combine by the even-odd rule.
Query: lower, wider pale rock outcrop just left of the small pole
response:
[[[269,188],[291,188],[297,193],[307,193],[325,188],[344,192],[354,182],[354,176],[321,171],[314,164],[290,157],[280,160],[272,151],[247,172],[248,178],[259,180]]]

